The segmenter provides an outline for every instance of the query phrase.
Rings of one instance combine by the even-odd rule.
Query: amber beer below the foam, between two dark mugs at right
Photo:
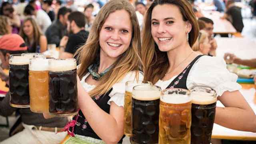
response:
[[[159,144],[190,144],[191,102],[160,101]]]

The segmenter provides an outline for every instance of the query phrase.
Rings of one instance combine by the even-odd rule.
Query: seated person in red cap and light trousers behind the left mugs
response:
[[[27,52],[24,40],[18,34],[6,34],[0,38],[0,59],[2,60],[0,78],[8,84],[9,76],[2,69],[9,69],[10,54]],[[10,116],[15,111],[20,113],[21,123],[11,132],[12,136],[1,144],[59,144],[66,133],[58,133],[68,122],[67,118],[45,119],[43,114],[33,113],[30,108],[14,108],[10,106],[10,94],[0,101],[0,115]],[[16,132],[16,134],[15,134]]]

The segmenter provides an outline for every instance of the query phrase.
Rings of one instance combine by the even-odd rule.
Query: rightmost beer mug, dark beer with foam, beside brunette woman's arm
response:
[[[192,97],[191,144],[210,144],[216,112],[216,91],[207,86],[193,86],[190,92]]]

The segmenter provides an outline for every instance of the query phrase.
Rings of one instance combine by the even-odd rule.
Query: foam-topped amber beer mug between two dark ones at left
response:
[[[31,58],[29,63],[30,110],[36,113],[49,111],[49,59]]]

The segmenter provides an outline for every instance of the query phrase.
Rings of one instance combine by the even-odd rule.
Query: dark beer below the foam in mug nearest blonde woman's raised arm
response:
[[[78,111],[76,70],[49,72],[49,112],[72,114]]]

